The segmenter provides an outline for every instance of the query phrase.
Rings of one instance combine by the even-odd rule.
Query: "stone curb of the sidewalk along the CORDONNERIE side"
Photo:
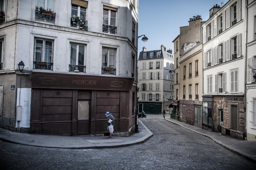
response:
[[[179,126],[181,126],[182,128],[186,128],[186,129],[188,129],[188,130],[191,130],[191,131],[193,131],[193,132],[195,132],[195,133],[198,133],[199,135],[203,135],[203,136],[205,136],[205,137],[208,137],[208,138],[212,139],[212,141],[214,141],[215,143],[219,144],[220,146],[222,146],[222,147],[228,149],[229,151],[231,151],[231,152],[233,152],[233,153],[236,153],[236,154],[238,154],[239,156],[242,156],[243,158],[246,158],[246,159],[248,159],[249,161],[251,161],[251,162],[253,162],[253,163],[256,164],[256,159],[255,159],[255,158],[252,158],[253,156],[252,156],[251,154],[249,154],[249,153],[246,153],[246,152],[244,152],[244,151],[241,151],[241,150],[239,150],[239,149],[236,149],[236,148],[234,148],[234,147],[231,147],[231,146],[229,146],[229,145],[227,145],[227,144],[225,144],[225,143],[223,143],[223,142],[217,140],[215,137],[213,137],[213,136],[211,136],[211,135],[206,135],[206,134],[203,134],[203,133],[198,132],[198,131],[196,131],[196,130],[187,128],[187,127],[185,127],[185,126],[183,126],[183,125],[181,125],[181,124],[179,124],[179,123],[177,123],[177,122],[173,122],[172,120],[168,120],[168,119],[164,119],[164,120],[167,120],[167,121],[169,121],[169,122],[172,122],[173,124],[179,125]]]

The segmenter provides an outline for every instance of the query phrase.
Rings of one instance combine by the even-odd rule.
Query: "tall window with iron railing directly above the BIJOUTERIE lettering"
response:
[[[34,68],[52,70],[53,41],[47,39],[35,39]]]

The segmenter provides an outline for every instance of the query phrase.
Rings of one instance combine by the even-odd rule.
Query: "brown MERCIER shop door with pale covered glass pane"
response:
[[[78,101],[77,135],[90,134],[90,101]]]

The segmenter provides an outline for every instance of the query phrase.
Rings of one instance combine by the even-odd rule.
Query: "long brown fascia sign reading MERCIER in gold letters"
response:
[[[131,90],[133,78],[33,73],[34,88]]]

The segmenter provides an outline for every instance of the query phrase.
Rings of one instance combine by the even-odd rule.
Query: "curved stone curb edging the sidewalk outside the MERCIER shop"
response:
[[[153,136],[153,133],[148,130],[148,128],[139,120],[140,123],[144,126],[144,128],[148,131],[148,135],[145,135],[139,139],[136,139],[134,141],[129,142],[122,142],[122,143],[108,143],[108,144],[90,144],[88,145],[55,145],[55,144],[44,144],[44,143],[30,143],[27,141],[23,141],[20,139],[13,138],[11,136],[5,136],[0,135],[0,140],[4,142],[10,142],[10,143],[17,143],[17,144],[23,144],[23,145],[29,145],[29,146],[37,146],[37,147],[46,147],[46,148],[62,148],[62,149],[99,149],[99,148],[116,148],[116,147],[124,147],[124,146],[130,146],[135,145],[139,143],[143,143],[147,141],[150,137]]]

